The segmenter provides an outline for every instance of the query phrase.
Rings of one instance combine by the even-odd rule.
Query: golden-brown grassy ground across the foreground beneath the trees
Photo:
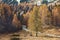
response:
[[[55,34],[59,36],[60,30],[58,31],[56,29],[50,29],[46,30],[44,33]],[[32,33],[32,35],[30,35],[29,32],[22,30],[16,33],[2,34],[0,35],[0,40],[11,40],[12,38],[20,38],[20,40],[60,40],[60,37],[49,37],[42,35],[43,34],[38,34],[38,37],[36,37],[35,33]]]

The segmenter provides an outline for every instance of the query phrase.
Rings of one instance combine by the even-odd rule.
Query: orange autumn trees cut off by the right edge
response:
[[[54,7],[52,10],[52,15],[53,15],[53,24],[54,25],[60,25],[60,7]]]

